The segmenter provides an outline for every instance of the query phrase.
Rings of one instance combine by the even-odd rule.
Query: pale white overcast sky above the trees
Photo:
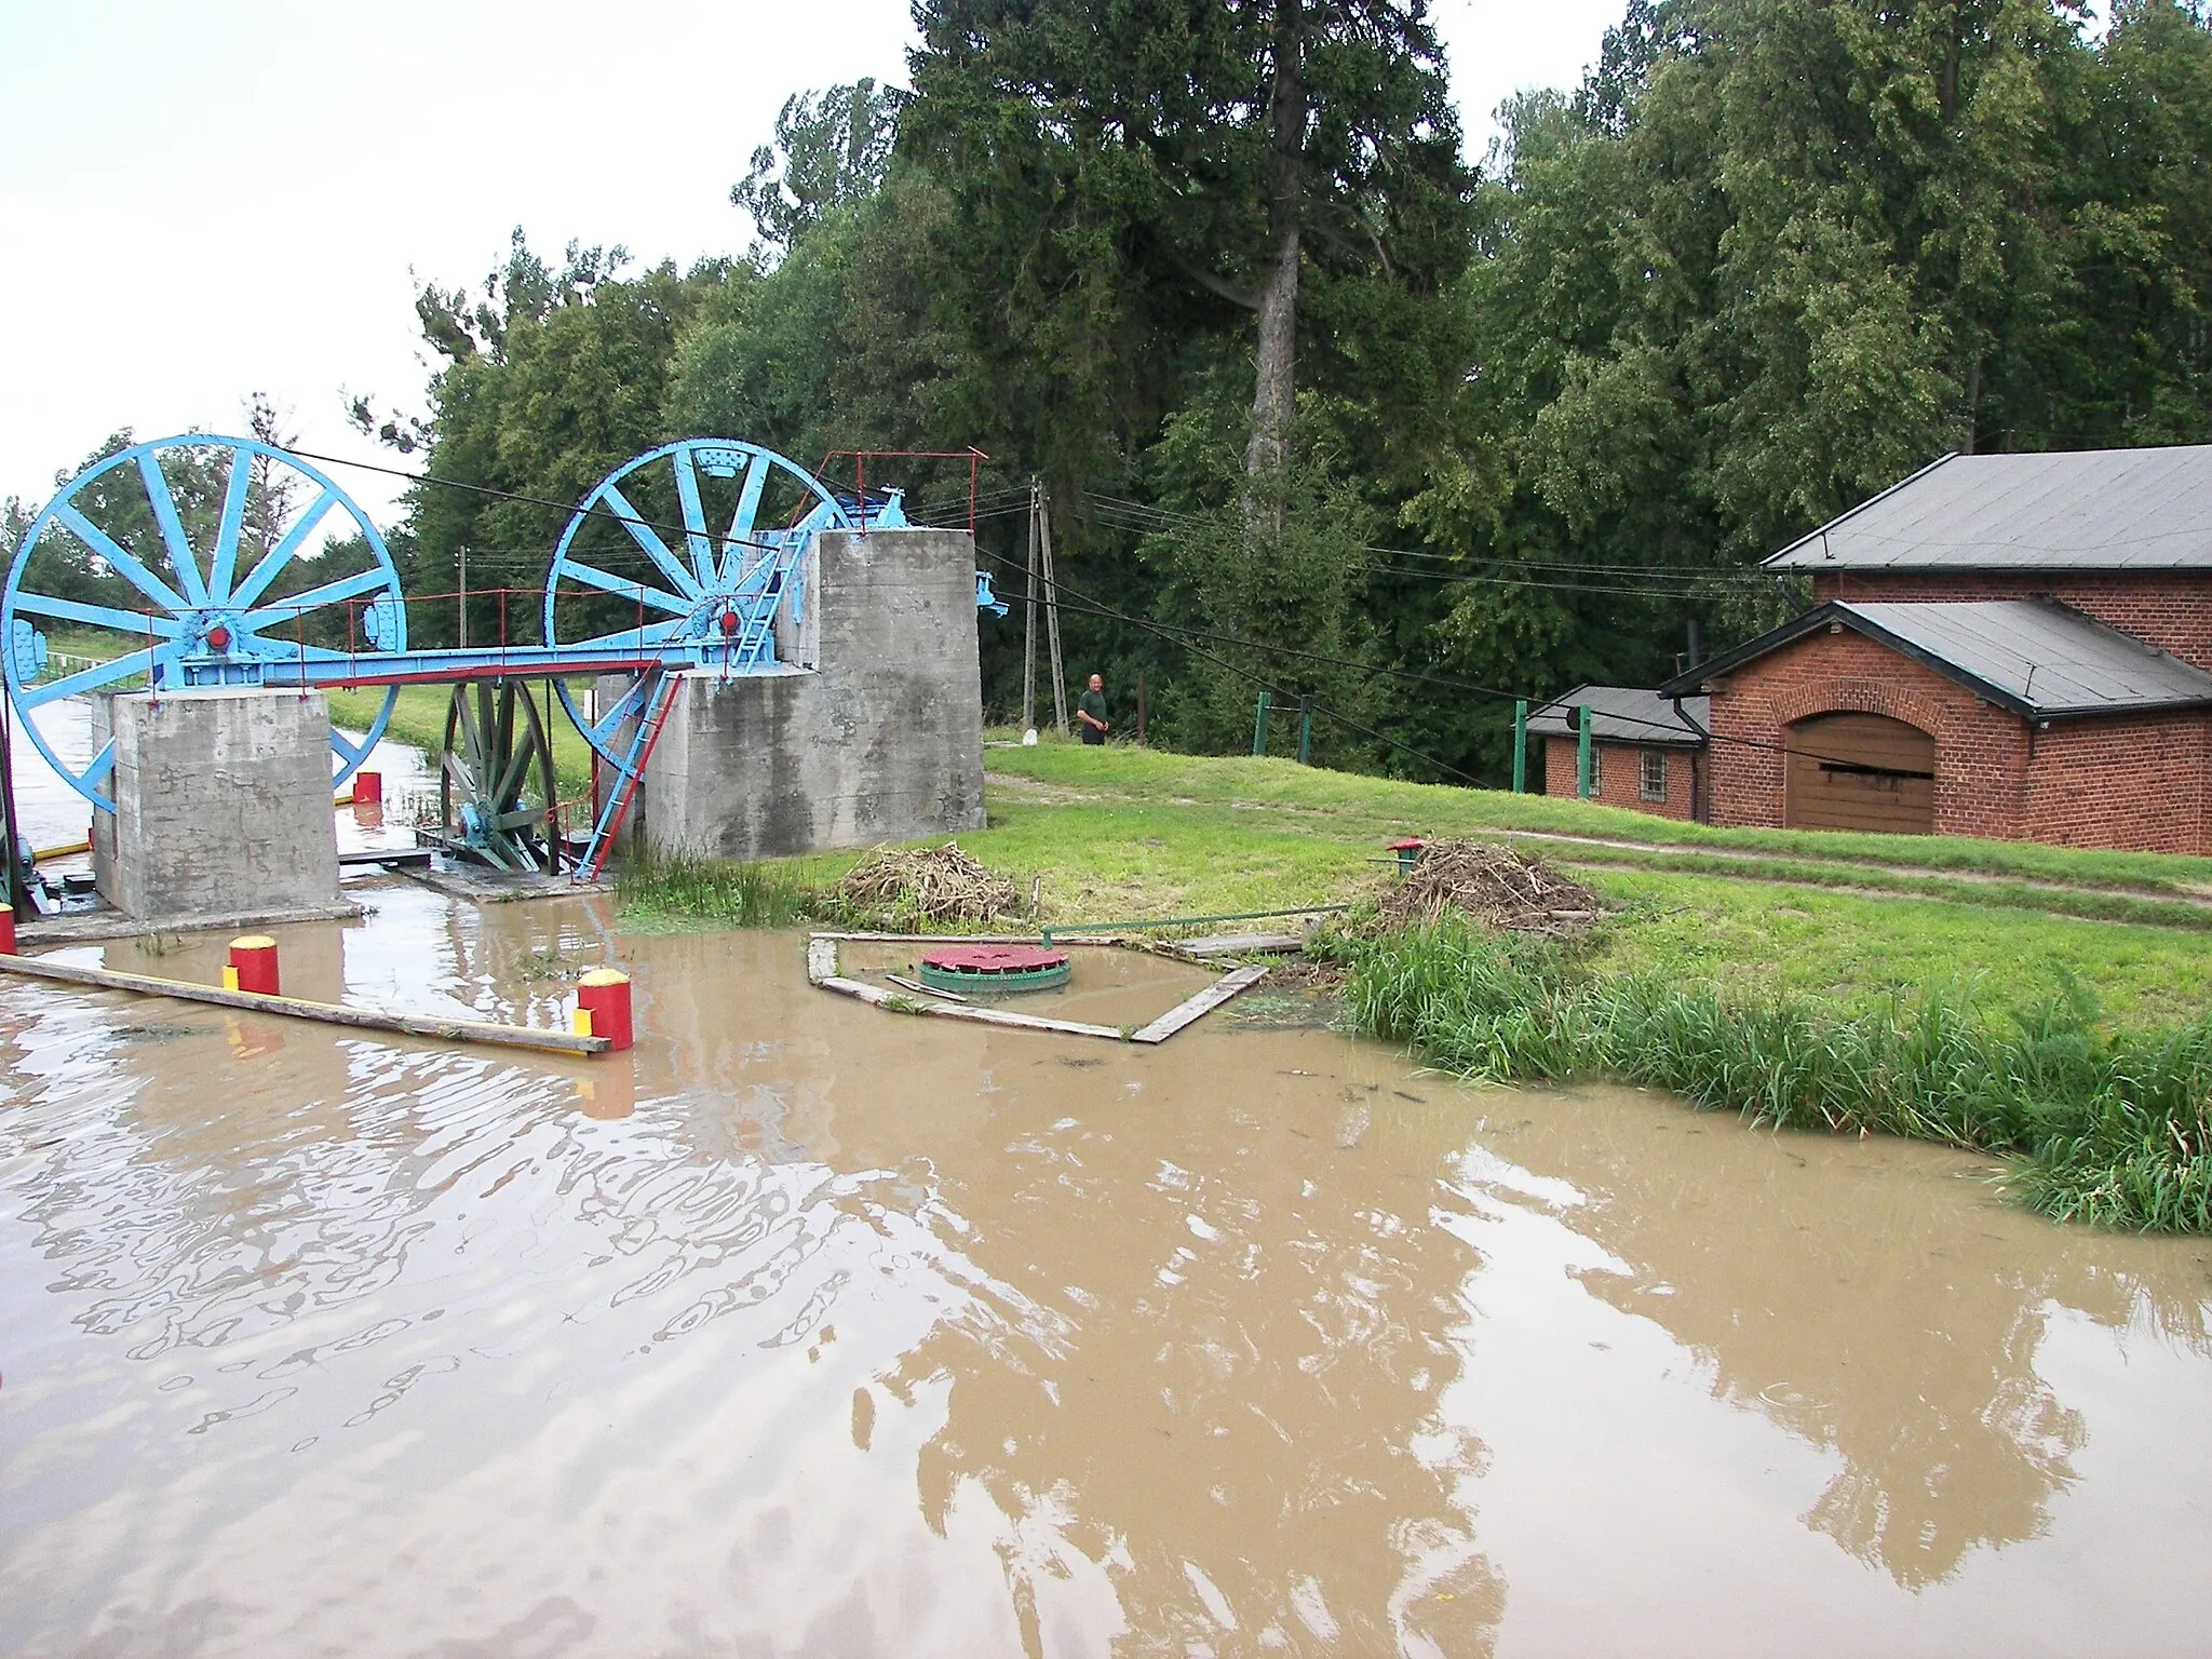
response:
[[[1433,0],[1473,157],[1621,4]],[[420,409],[418,279],[480,281],[513,226],[741,252],[783,97],[902,82],[911,38],[907,0],[0,0],[0,493],[117,427],[239,431],[252,392],[380,460],[341,387]],[[338,482],[389,520],[396,484]]]

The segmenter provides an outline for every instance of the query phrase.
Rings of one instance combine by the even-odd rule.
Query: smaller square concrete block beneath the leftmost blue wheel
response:
[[[148,925],[327,914],[338,902],[330,708],[321,692],[113,697],[115,814],[93,874]]]

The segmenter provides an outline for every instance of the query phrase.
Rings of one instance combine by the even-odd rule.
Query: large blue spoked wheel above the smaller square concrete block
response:
[[[113,812],[115,743],[91,743],[88,692],[259,686],[272,664],[405,650],[407,611],[385,538],[343,489],[283,449],[192,431],[86,467],[31,520],[0,639],[31,743]],[[396,701],[387,690],[358,743],[332,730],[334,781]]]

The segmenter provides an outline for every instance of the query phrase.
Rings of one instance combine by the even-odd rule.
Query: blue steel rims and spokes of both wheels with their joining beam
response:
[[[161,471],[164,449],[230,451],[223,509],[206,562],[192,549],[168,476]],[[316,487],[316,495],[281,533],[279,542],[239,577],[237,557],[248,484],[257,460],[305,476]],[[670,549],[659,531],[637,513],[622,489],[624,480],[661,462],[672,473],[684,515],[681,553]],[[119,467],[135,467],[146,487],[175,584],[119,546],[77,507],[77,498],[88,484]],[[812,507],[785,529],[761,529],[757,524],[761,498],[776,469],[792,476],[803,491],[803,502],[812,500]],[[701,473],[741,478],[737,509],[726,529],[710,529],[706,522],[699,493]],[[361,533],[372,568],[323,582],[276,604],[263,604],[263,595],[283,566],[303,555],[310,538],[334,511],[349,518]],[[575,540],[593,515],[617,520],[650,560],[659,582],[635,582],[584,557],[575,549]],[[55,743],[40,730],[38,710],[137,675],[146,675],[157,692],[215,686],[283,690],[385,686],[385,701],[361,743],[332,730],[330,743],[338,757],[336,783],[352,776],[376,748],[392,717],[392,706],[398,701],[398,688],[405,684],[451,684],[482,677],[551,679],[568,719],[613,768],[617,783],[628,785],[644,765],[650,730],[657,726],[655,717],[666,706],[666,675],[686,668],[721,668],[726,675],[776,670],[781,666],[776,661],[776,619],[790,615],[792,622],[801,622],[805,615],[803,555],[814,535],[825,529],[900,529],[905,524],[905,504],[896,489],[869,498],[836,495],[814,473],[772,449],[739,438],[686,438],[617,467],[568,518],[546,571],[544,646],[409,650],[407,608],[392,553],[367,513],[338,484],[305,460],[252,438],[184,434],[135,445],[97,467],[88,467],[31,522],[9,566],[4,595],[0,595],[0,639],[4,639],[0,655],[7,664],[9,699],[22,714],[31,741],[53,770],[102,812],[115,810],[115,803],[102,794],[115,765],[113,741],[80,772],[62,761]],[[31,591],[24,584],[27,566],[40,540],[55,526],[84,542],[113,573],[137,588],[146,608],[122,611]],[[571,593],[613,593],[635,599],[639,626],[562,641],[557,637],[557,599]],[[1006,615],[1006,606],[991,593],[982,571],[975,573],[975,604]],[[303,619],[332,606],[347,608],[347,639],[365,646],[363,650],[310,646],[303,637],[285,639],[281,633],[272,633],[294,628],[296,635],[303,635]],[[646,613],[653,613],[655,619],[644,622]],[[148,644],[75,675],[42,681],[46,637],[31,617],[106,628]],[[613,708],[588,717],[568,695],[566,679],[575,675],[635,675],[635,681]],[[622,732],[626,723],[630,726],[628,737]]]

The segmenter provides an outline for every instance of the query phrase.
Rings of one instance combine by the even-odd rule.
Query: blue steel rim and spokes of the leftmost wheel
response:
[[[208,451],[228,451],[230,456],[223,469],[221,515],[217,518],[215,540],[206,549],[206,555],[192,546],[192,538],[177,511],[170,478],[161,469],[164,451],[199,451],[201,456]],[[314,493],[307,507],[283,529],[276,544],[261,549],[252,557],[252,568],[239,573],[248,491],[257,462],[303,476],[314,487]],[[146,491],[146,502],[168,562],[166,577],[150,562],[117,544],[115,538],[84,513],[82,502],[86,502],[91,487],[108,478],[108,473],[124,469],[137,471],[139,487]],[[338,522],[332,529],[338,535],[345,533],[343,520],[352,520],[352,529],[367,546],[369,566],[316,584],[281,602],[263,604],[263,595],[283,575],[283,568],[292,560],[307,555],[310,546],[321,546],[316,533],[330,526],[334,513]],[[124,611],[119,606],[84,604],[80,599],[38,593],[35,586],[29,586],[24,575],[31,557],[38,553],[40,542],[55,533],[66,533],[82,542],[108,571],[139,593],[144,608]],[[363,602],[367,604],[363,606]],[[188,431],[175,438],[133,445],[69,480],[46,509],[31,520],[31,529],[15,549],[7,573],[7,588],[0,591],[0,637],[7,639],[9,701],[13,701],[24,732],[38,752],[46,757],[46,763],[97,810],[115,812],[113,799],[102,794],[115,768],[113,739],[80,768],[62,759],[53,741],[55,734],[42,726],[40,710],[51,708],[64,697],[106,690],[139,675],[157,692],[188,686],[283,684],[281,679],[270,679],[272,670],[303,677],[319,666],[327,668],[334,661],[343,661],[347,653],[310,646],[301,637],[285,639],[281,630],[305,633],[305,619],[334,606],[358,611],[374,648],[407,648],[407,611],[400,604],[400,575],[392,564],[392,553],[385,549],[385,538],[376,533],[369,515],[323,471],[252,438],[219,438]],[[80,628],[100,628],[144,644],[111,661],[97,661],[73,675],[40,681],[46,668],[46,639],[33,617],[66,622]],[[369,750],[376,748],[376,739],[383,737],[396,701],[398,690],[387,692],[361,743],[349,741],[336,728],[332,730],[330,748],[338,761],[334,772],[336,783],[352,776],[369,757]],[[51,714],[44,723],[51,723]]]

